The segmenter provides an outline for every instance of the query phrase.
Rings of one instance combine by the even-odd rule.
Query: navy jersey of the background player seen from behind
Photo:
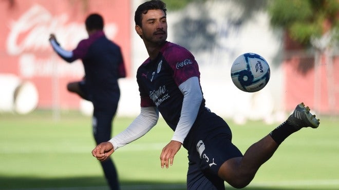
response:
[[[107,39],[103,31],[98,31],[81,40],[72,52],[72,59],[82,59],[89,100],[100,107],[117,102],[118,78],[126,76],[120,47]]]

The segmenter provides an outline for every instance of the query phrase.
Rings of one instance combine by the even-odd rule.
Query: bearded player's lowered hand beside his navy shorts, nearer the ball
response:
[[[177,152],[180,150],[181,142],[171,140],[170,143],[168,143],[161,152],[160,155],[160,161],[161,161],[161,167],[168,168],[168,163],[170,165],[173,165],[174,155],[177,154]]]

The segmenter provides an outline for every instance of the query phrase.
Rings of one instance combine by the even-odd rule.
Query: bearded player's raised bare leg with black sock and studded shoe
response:
[[[281,142],[302,128],[317,128],[319,123],[319,119],[310,113],[310,109],[305,107],[304,103],[298,104],[285,122],[252,144],[243,157],[225,161],[219,168],[219,177],[236,188],[247,186],[259,167],[271,158]]]

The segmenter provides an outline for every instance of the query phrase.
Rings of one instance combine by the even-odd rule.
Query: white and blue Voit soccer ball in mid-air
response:
[[[237,57],[231,67],[234,85],[244,92],[263,89],[270,79],[270,66],[258,54],[244,53]]]

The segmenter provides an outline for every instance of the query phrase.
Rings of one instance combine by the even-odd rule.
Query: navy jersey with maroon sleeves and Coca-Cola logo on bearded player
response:
[[[138,68],[141,107],[156,106],[166,123],[175,131],[183,101],[183,94],[178,87],[194,76],[200,80],[199,67],[192,53],[166,41],[156,59],[148,58]],[[205,100],[202,99],[199,113],[204,107]]]

